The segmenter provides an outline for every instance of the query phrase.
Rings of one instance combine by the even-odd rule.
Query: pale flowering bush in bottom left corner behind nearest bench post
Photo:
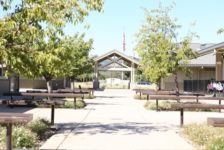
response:
[[[6,129],[1,130],[1,142],[6,143]],[[37,143],[37,135],[24,126],[12,127],[12,146],[13,148],[31,148]]]

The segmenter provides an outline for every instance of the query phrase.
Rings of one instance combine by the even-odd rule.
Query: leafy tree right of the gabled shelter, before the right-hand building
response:
[[[170,7],[145,10],[146,22],[137,33],[137,45],[135,50],[140,56],[140,69],[144,76],[159,84],[162,78],[174,74],[176,92],[179,93],[177,72],[189,72],[186,64],[189,59],[195,57],[190,48],[193,34],[184,37],[177,42],[180,25],[169,16]]]

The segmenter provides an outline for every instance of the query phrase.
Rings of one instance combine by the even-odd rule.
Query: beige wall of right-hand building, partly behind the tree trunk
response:
[[[192,74],[187,77],[182,72],[178,72],[178,83],[180,90],[184,89],[184,80],[211,80],[215,79],[215,68],[191,68]],[[162,80],[162,89],[175,90],[174,77]]]

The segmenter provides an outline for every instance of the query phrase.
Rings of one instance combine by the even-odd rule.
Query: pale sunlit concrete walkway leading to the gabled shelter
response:
[[[59,124],[64,122],[64,130],[52,136],[41,149],[194,149],[177,133],[178,112],[146,111],[144,101],[133,100],[134,93],[129,90],[95,94],[97,98],[87,100],[84,110],[56,110],[55,120]],[[39,115],[46,111],[49,110],[39,111]]]

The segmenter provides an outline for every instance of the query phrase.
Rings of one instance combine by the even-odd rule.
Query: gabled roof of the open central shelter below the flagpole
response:
[[[136,59],[134,59],[134,58],[132,58],[130,56],[127,56],[124,53],[119,52],[118,50],[112,50],[112,51],[110,51],[110,52],[108,52],[106,54],[103,54],[103,55],[95,58],[95,62],[106,60],[108,57],[113,56],[113,55],[118,55],[118,56],[122,57],[125,60],[133,62],[136,65],[139,65],[139,62]]]

